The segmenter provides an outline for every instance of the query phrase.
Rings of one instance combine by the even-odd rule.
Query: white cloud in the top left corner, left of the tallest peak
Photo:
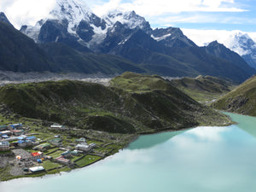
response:
[[[12,24],[19,28],[21,25],[34,25],[36,21],[48,15],[55,5],[53,0],[1,0],[0,9]]]

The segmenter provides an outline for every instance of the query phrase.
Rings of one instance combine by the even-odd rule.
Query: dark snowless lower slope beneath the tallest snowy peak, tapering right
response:
[[[81,53],[65,44],[40,44],[62,72],[119,74],[126,71],[145,73],[131,61],[115,55]]]

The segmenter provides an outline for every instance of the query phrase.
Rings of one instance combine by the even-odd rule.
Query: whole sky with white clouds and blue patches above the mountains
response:
[[[256,32],[255,0],[80,0],[96,13],[122,8],[135,10],[152,27],[177,26],[201,30]],[[19,28],[34,25],[52,9],[55,0],[0,0],[0,11]]]

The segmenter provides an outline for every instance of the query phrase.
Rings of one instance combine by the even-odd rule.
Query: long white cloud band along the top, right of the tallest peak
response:
[[[121,7],[135,10],[140,15],[163,15],[166,13],[182,12],[243,12],[245,9],[236,7],[234,0],[133,0],[125,3],[120,0],[110,0],[108,3],[97,5],[94,11],[98,15],[106,14],[107,9]],[[102,8],[106,8],[105,11]],[[105,13],[104,13],[105,12]]]

